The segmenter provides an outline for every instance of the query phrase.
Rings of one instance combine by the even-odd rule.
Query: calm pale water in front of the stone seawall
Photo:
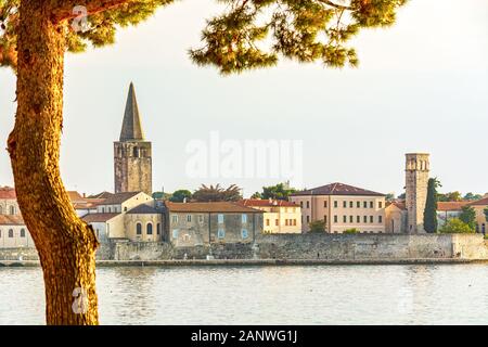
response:
[[[102,324],[488,324],[488,266],[101,268]],[[43,324],[40,269],[0,268],[0,324]]]

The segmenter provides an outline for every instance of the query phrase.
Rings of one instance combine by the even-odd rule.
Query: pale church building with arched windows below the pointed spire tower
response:
[[[144,192],[111,194],[82,220],[93,228],[100,242],[163,241],[164,210],[156,208],[154,200]]]

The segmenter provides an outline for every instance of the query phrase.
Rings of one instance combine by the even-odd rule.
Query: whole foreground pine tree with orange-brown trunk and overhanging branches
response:
[[[136,25],[170,2],[84,0],[80,8],[75,0],[0,0],[0,66],[11,67],[17,78],[15,126],[7,146],[18,205],[43,271],[48,324],[99,323],[99,243],[77,217],[60,175],[65,53],[113,43],[118,27]],[[269,67],[281,57],[356,66],[350,38],[361,28],[393,25],[406,0],[226,2],[224,12],[203,30],[204,46],[190,51],[195,63],[222,74]],[[270,44],[259,49],[258,42]],[[81,310],[74,309],[74,298],[81,300]]]

